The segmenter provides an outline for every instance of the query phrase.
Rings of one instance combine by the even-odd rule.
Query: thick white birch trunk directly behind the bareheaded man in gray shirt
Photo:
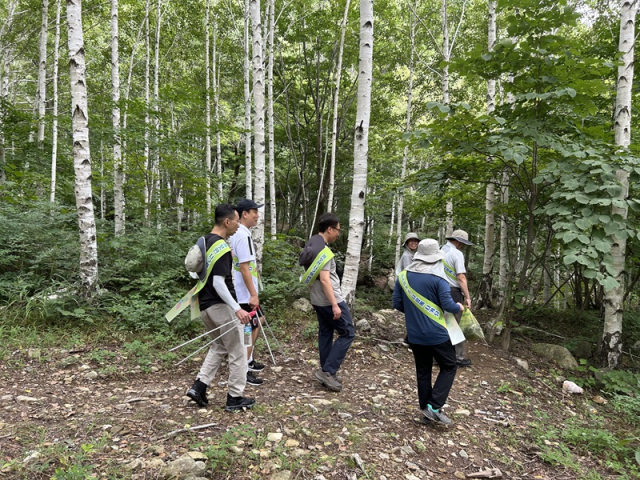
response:
[[[358,104],[353,145],[353,188],[349,214],[349,241],[342,277],[342,293],[353,307],[362,233],[364,230],[367,161],[369,157],[369,119],[371,117],[371,77],[373,70],[373,0],[360,0],[360,60],[358,65]]]

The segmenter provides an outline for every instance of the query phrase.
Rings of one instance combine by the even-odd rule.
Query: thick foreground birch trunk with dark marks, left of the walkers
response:
[[[73,168],[80,233],[80,281],[83,293],[91,296],[98,281],[98,245],[91,193],[91,154],[89,150],[89,112],[87,107],[86,65],[82,34],[82,0],[67,0],[69,29],[69,80],[71,86],[71,127]]]

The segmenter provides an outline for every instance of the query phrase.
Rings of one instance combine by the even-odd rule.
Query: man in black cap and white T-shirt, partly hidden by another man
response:
[[[229,238],[229,246],[233,251],[233,281],[236,287],[238,303],[247,312],[256,311],[251,321],[251,346],[247,347],[247,384],[262,385],[263,380],[255,375],[264,369],[262,363],[253,359],[253,347],[256,344],[261,328],[262,310],[259,308],[258,293],[261,290],[260,272],[256,263],[256,247],[253,243],[250,228],[258,224],[260,218],[258,205],[246,198],[236,204],[239,226],[236,233]]]

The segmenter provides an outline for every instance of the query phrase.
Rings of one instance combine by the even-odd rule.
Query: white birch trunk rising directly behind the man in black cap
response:
[[[251,56],[253,58],[253,145],[255,168],[255,191],[253,200],[263,205],[265,203],[265,165],[264,165],[264,57],[262,48],[262,20],[260,15],[260,0],[250,0],[251,31],[253,43]],[[264,207],[261,208],[258,224],[253,229],[253,241],[256,247],[256,261],[262,266],[262,248],[264,246]]]

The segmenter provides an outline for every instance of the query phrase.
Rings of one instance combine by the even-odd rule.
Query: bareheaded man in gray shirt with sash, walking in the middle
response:
[[[300,281],[309,287],[311,304],[318,317],[318,350],[320,368],[316,379],[327,389],[342,390],[342,379],[336,374],[355,338],[349,307],[340,291],[336,261],[329,244],[340,236],[340,220],[333,213],[323,213],[318,234],[309,239],[300,254],[299,263],[306,271]],[[333,333],[338,338],[333,341]]]

